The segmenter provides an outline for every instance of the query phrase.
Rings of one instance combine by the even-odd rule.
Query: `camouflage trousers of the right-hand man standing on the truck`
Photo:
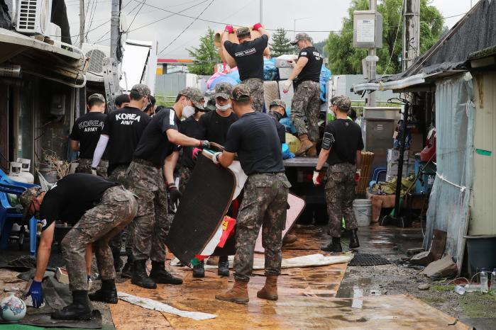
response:
[[[320,84],[303,81],[294,91],[291,103],[291,120],[297,135],[307,134],[309,140],[319,139]],[[306,120],[306,123],[305,123]]]

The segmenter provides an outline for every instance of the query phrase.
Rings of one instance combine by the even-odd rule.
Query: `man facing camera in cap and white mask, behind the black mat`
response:
[[[199,125],[202,128],[202,139],[209,140],[221,145],[226,143],[227,132],[229,127],[238,120],[238,116],[233,112],[231,106],[231,89],[233,86],[228,83],[219,83],[215,85],[215,110],[202,116]],[[232,216],[232,209],[229,209],[228,215]],[[228,256],[219,256],[217,263],[217,274],[221,276],[229,275]],[[203,278],[205,276],[204,262],[201,261],[193,267],[193,277]]]

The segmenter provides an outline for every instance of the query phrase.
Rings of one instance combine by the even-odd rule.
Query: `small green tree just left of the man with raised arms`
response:
[[[187,50],[189,56],[197,61],[189,67],[189,72],[192,74],[214,74],[215,64],[221,62],[221,57],[219,57],[217,48],[214,46],[214,35],[214,30],[209,28],[206,34],[200,38],[199,47]]]

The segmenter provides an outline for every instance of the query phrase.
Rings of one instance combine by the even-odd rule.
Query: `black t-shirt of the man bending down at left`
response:
[[[75,224],[84,212],[100,203],[105,190],[119,183],[86,173],[74,173],[61,178],[50,188],[40,206],[40,217],[46,220],[42,230],[54,221]]]

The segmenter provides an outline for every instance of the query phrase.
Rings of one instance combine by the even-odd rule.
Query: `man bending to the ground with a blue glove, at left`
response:
[[[36,271],[29,294],[33,306],[43,303],[41,281],[50,258],[55,221],[72,225],[62,239],[62,254],[69,275],[72,304],[52,313],[53,319],[89,319],[92,307],[88,301],[88,282],[84,251],[92,244],[97,255],[101,289],[89,295],[99,302],[117,303],[114,261],[109,239],[136,215],[137,203],[133,194],[99,176],[75,173],[61,178],[48,191],[29,188],[21,195],[23,218],[34,215],[43,219],[40,245],[36,256]]]

